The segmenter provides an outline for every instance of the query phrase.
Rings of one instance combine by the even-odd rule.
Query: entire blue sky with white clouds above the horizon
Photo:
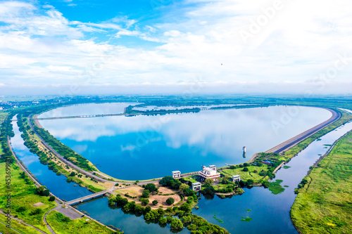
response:
[[[351,93],[352,2],[0,1],[0,96]]]

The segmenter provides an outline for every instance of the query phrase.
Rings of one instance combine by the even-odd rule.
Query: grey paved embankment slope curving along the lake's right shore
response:
[[[318,124],[317,126],[313,126],[313,128],[308,129],[307,131],[303,131],[303,133],[298,134],[297,136],[294,136],[293,138],[284,141],[283,143],[276,145],[275,147],[271,148],[270,150],[266,150],[265,152],[277,152],[277,153],[282,153],[289,148],[294,147],[294,145],[297,145],[301,141],[305,140],[306,138],[312,136],[316,132],[320,131],[321,129],[324,129],[325,126],[332,124],[333,122],[336,122],[341,118],[341,113],[338,111],[335,111],[330,108],[323,108],[325,110],[329,110],[329,112],[332,112],[332,117],[327,119],[327,121],[322,122],[321,124]]]

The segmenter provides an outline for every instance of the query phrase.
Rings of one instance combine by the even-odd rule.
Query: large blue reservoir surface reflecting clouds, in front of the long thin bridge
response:
[[[320,108],[276,106],[162,116],[55,119],[41,124],[108,174],[131,174],[130,170],[122,173],[123,169],[111,167],[111,163],[131,163],[138,169],[158,168],[160,172],[153,173],[158,177],[172,169],[198,170],[202,163],[220,167],[245,162],[248,159],[241,151],[244,145],[247,157],[251,157],[329,117],[331,113]],[[139,172],[139,176],[151,178],[145,171]]]

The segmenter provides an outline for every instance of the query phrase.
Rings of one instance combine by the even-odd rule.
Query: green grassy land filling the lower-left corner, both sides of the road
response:
[[[7,144],[7,135],[13,136],[10,121],[12,117],[13,114],[8,115],[7,121],[3,122],[0,128],[0,210],[4,213],[11,212],[11,228],[18,230],[20,233],[40,233],[31,226],[45,233],[50,233],[44,223],[44,214],[56,207],[57,204],[55,198],[49,195],[49,190],[45,186],[39,188],[34,186],[33,181],[14,163],[13,155]],[[6,159],[11,159],[7,161],[11,168],[11,183],[2,183],[2,181],[6,181],[6,176],[8,176],[8,173],[6,173]],[[11,203],[8,203],[8,193],[11,193]],[[50,212],[49,214],[52,213],[55,213],[56,217],[64,217],[58,212]],[[15,230],[7,228],[4,225],[6,221],[5,214],[0,213],[0,232],[9,234],[18,233]],[[31,226],[28,226],[28,224]],[[57,233],[68,233],[68,230],[73,230],[72,233],[92,233],[92,230],[94,230],[94,233],[119,233],[118,230],[110,230],[95,221],[85,221],[85,219],[73,221],[68,217],[64,219],[52,219],[50,225],[58,230]]]

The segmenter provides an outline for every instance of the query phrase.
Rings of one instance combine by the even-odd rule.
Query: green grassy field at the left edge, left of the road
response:
[[[29,223],[36,228],[44,230],[46,233],[50,233],[46,228],[43,218],[44,214],[49,211],[49,209],[56,207],[56,202],[49,202],[49,197],[35,194],[35,186],[32,185],[32,183],[25,181],[24,178],[21,178],[20,172],[20,168],[17,165],[11,165],[11,214],[17,216],[18,219],[23,220],[25,223]],[[6,164],[2,162],[0,163],[0,209],[3,211],[8,210],[6,207],[6,195],[8,192],[6,184],[3,182],[5,181],[6,175]],[[44,204],[40,207],[34,207],[33,204],[37,202],[42,202]],[[40,209],[40,211],[35,212],[36,209]],[[1,216],[4,215],[1,214]]]

